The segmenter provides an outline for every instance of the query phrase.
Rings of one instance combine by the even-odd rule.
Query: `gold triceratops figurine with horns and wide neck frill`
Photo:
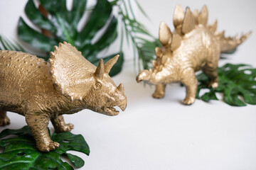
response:
[[[50,59],[24,52],[0,51],[0,125],[8,125],[6,111],[24,115],[41,152],[59,147],[50,140],[48,123],[56,132],[73,129],[63,114],[88,108],[105,115],[117,115],[127,106],[124,86],[116,86],[109,76],[118,55],[97,67],[67,42],[55,46]]]

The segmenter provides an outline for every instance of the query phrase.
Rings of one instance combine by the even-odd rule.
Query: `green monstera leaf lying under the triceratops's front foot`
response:
[[[11,137],[8,137],[11,135]],[[18,135],[18,136],[14,136]],[[7,138],[6,138],[7,137]],[[36,170],[58,169],[69,170],[82,167],[85,162],[68,151],[78,151],[89,155],[90,149],[82,135],[73,135],[71,132],[53,133],[50,138],[60,143],[54,151],[43,153],[36,149],[36,142],[28,126],[18,130],[3,130],[0,133],[0,146],[4,152],[0,153],[0,169],[2,170]],[[63,162],[60,156],[68,157],[70,166]]]

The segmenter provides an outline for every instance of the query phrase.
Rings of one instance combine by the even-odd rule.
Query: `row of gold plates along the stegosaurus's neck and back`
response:
[[[166,23],[161,22],[159,28],[159,40],[162,47],[156,47],[156,60],[152,62],[154,70],[161,72],[161,69],[171,58],[173,52],[181,46],[183,36],[190,33],[197,25],[201,24],[208,27],[213,33],[216,30],[217,23],[213,23],[213,26],[207,26],[208,21],[208,9],[203,6],[201,12],[198,10],[191,12],[190,8],[183,8],[177,5],[174,10],[174,32],[171,33],[170,28]]]

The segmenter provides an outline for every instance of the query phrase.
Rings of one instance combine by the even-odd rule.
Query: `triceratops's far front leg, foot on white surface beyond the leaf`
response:
[[[53,123],[55,132],[69,132],[74,128],[74,125],[71,123],[65,124],[63,115],[57,115],[55,118],[50,119]]]

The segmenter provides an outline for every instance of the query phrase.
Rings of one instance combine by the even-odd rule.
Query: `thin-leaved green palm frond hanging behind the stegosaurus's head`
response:
[[[146,16],[139,2],[135,2],[140,11]],[[122,1],[119,4],[119,18],[122,21],[122,31],[125,33],[127,43],[132,44],[134,65],[137,65],[139,70],[141,66],[143,69],[149,69],[151,67],[151,60],[154,59],[154,48],[160,45],[159,40],[154,38],[142,23],[137,21],[130,0]],[[122,34],[122,39],[123,36],[124,34]]]

